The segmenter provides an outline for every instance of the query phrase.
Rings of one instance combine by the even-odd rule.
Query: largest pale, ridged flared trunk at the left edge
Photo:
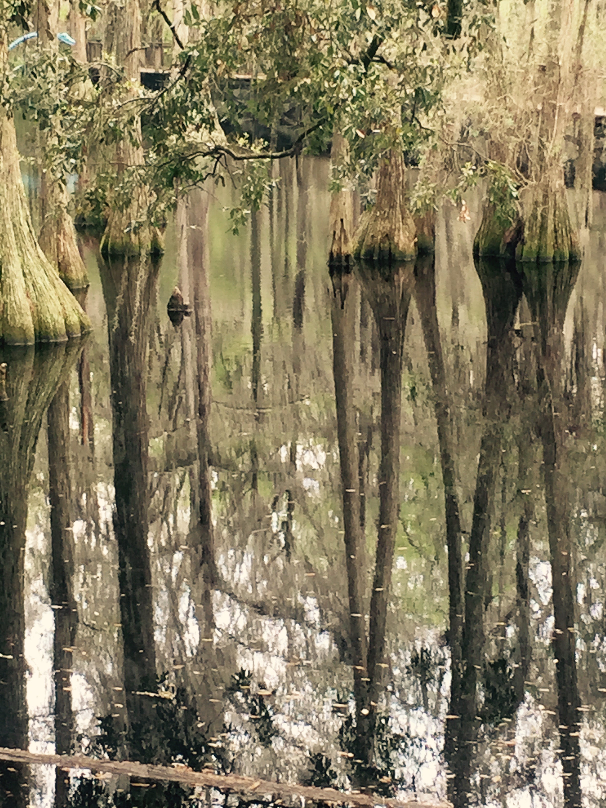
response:
[[[6,32],[0,31],[0,74],[6,62]],[[61,342],[90,330],[86,314],[36,241],[15,124],[5,107],[0,107],[0,209],[0,341]]]

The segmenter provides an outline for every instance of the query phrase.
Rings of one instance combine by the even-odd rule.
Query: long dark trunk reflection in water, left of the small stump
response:
[[[109,366],[112,381],[113,462],[118,544],[120,617],[124,642],[127,724],[124,751],[133,746],[155,760],[158,733],[149,698],[154,691],[156,656],[151,567],[149,561],[149,418],[147,353],[149,313],[155,297],[158,264],[141,259],[100,263],[107,306]],[[128,743],[126,743],[128,740]],[[143,752],[145,750],[145,752]]]

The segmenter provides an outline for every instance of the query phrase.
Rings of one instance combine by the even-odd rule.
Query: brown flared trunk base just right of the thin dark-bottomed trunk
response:
[[[415,222],[406,204],[404,155],[391,149],[379,166],[377,203],[364,213],[354,238],[354,256],[389,264],[411,261],[416,255]]]

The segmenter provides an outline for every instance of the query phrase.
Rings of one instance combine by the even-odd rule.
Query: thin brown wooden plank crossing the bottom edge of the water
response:
[[[292,783],[276,783],[267,780],[255,780],[253,777],[242,777],[234,774],[214,774],[213,772],[194,772],[187,766],[153,766],[135,763],[129,760],[96,760],[86,755],[43,755],[23,749],[0,747],[0,760],[11,763],[39,764],[59,766],[63,769],[82,768],[91,772],[107,772],[108,774],[125,774],[141,780],[168,780],[184,785],[200,785],[204,788],[221,789],[222,791],[238,791],[269,795],[273,799],[303,797],[314,802],[332,802],[350,806],[389,806],[389,808],[452,808],[448,802],[418,802],[410,800],[401,802],[393,799],[381,799],[374,794],[346,793],[336,789],[317,789],[309,785]]]

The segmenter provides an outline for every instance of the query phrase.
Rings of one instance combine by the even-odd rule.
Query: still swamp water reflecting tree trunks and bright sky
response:
[[[160,266],[85,238],[94,333],[0,349],[0,746],[606,805],[604,197],[581,266],[474,264],[470,202],[329,273],[327,164],[280,170]],[[0,765],[2,806],[271,802]]]

